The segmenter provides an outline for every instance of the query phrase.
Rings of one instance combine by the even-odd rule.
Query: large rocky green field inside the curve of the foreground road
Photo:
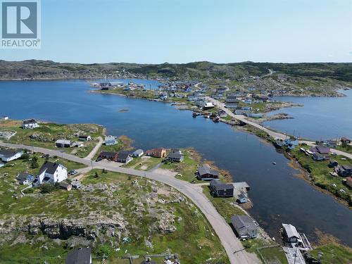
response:
[[[39,160],[44,162],[44,159]],[[78,168],[78,165],[64,164],[69,168]],[[161,194],[158,193],[158,198],[166,201],[175,199],[175,195],[181,195],[164,184],[115,172],[92,170],[82,180],[82,184],[90,186],[107,184],[115,191],[87,192],[80,189],[73,191],[59,189],[50,194],[39,194],[38,191],[34,191],[30,195],[19,196],[20,186],[15,176],[29,166],[30,161],[14,161],[0,168],[0,219],[21,217],[24,222],[25,218],[31,216],[75,219],[85,218],[94,212],[108,218],[109,215],[120,212],[127,221],[127,232],[122,237],[127,235],[130,242],[122,242],[122,237],[98,239],[96,244],[92,244],[94,263],[101,263],[101,259],[97,257],[101,256],[102,252],[108,256],[106,263],[128,263],[120,260],[121,256],[128,253],[144,256],[165,252],[178,253],[182,263],[210,263],[214,259],[217,259],[218,263],[229,263],[220,240],[191,201],[185,197],[184,201],[177,203],[149,201],[149,195],[155,188],[163,190]],[[34,173],[36,170],[30,172]],[[104,199],[106,202],[96,203],[94,199],[99,199],[98,201]],[[70,205],[68,201],[71,202]],[[137,208],[140,208],[140,213],[137,213]],[[158,218],[158,212],[161,211],[172,213],[175,232],[163,234],[151,230]],[[0,246],[0,263],[44,263],[44,260],[49,263],[63,263],[68,252],[68,241],[54,241],[42,234],[30,236],[26,232],[15,234],[13,238],[20,235],[27,239],[25,244],[11,240]],[[146,244],[146,240],[152,246]],[[111,243],[114,246],[111,246]],[[161,258],[155,260],[157,263],[163,263]]]

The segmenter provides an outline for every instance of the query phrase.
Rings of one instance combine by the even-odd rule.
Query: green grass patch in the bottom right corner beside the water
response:
[[[352,249],[338,244],[326,244],[309,252],[322,264],[352,263]],[[322,253],[319,257],[318,253]]]

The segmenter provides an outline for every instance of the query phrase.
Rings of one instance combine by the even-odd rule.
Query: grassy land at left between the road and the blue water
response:
[[[70,153],[81,158],[87,156],[98,143],[97,137],[103,137],[103,128],[94,124],[59,125],[54,123],[39,122],[39,127],[33,130],[23,130],[22,122],[18,120],[1,120],[0,130],[15,130],[15,134],[8,142],[39,146],[46,149],[59,149],[55,146],[57,139],[70,139],[78,141],[80,134],[89,134],[92,141],[84,142],[84,146],[77,148],[61,148],[65,153]]]

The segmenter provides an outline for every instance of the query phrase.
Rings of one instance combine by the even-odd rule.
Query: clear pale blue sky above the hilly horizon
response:
[[[42,0],[41,49],[73,63],[352,62],[352,0]]]

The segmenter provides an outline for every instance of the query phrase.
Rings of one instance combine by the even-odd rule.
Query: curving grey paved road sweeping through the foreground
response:
[[[174,187],[182,194],[187,196],[191,201],[198,206],[201,212],[206,216],[210,225],[212,225],[216,234],[224,246],[227,256],[230,258],[231,263],[240,263],[240,264],[252,264],[252,263],[261,263],[260,260],[256,257],[255,254],[248,253],[246,251],[241,251],[243,246],[239,239],[235,236],[230,225],[227,224],[224,218],[218,213],[218,211],[213,206],[208,198],[203,194],[201,187],[196,186],[195,184],[190,184],[182,180],[177,180],[175,177],[169,177],[165,175],[160,175],[155,172],[145,172],[141,170],[134,170],[130,168],[119,167],[120,164],[115,163],[101,163],[95,161],[89,161],[87,158],[79,158],[67,153],[61,153],[60,151],[44,149],[33,146],[25,146],[20,144],[8,144],[0,142],[0,146],[6,146],[15,149],[28,149],[34,152],[40,152],[49,154],[51,156],[60,156],[62,158],[68,159],[70,161],[75,161],[77,163],[82,163],[91,168],[106,169],[113,172],[125,173],[128,175],[134,175],[139,177],[148,177],[151,180],[156,180],[158,182],[163,182],[165,184]],[[238,251],[237,253],[234,253]]]

